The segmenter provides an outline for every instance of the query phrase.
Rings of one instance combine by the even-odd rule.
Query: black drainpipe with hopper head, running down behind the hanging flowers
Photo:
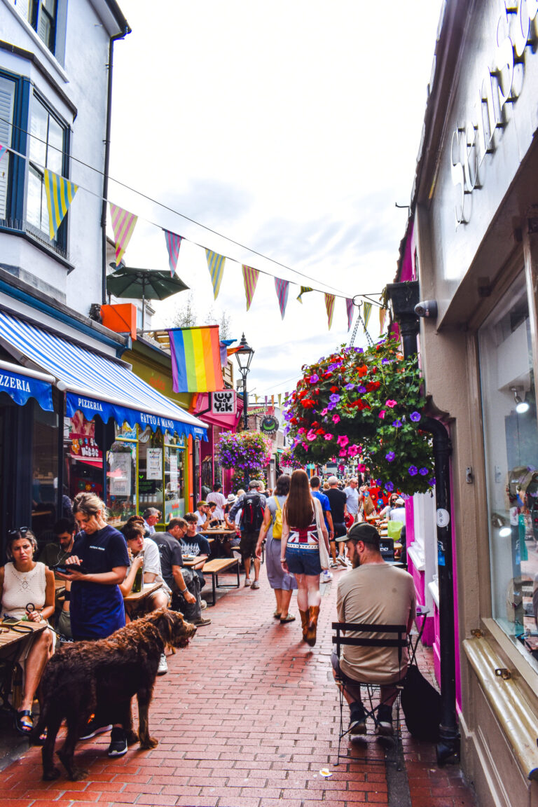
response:
[[[390,283],[387,290],[394,318],[400,324],[404,358],[417,352],[419,283]],[[423,417],[420,428],[433,437],[436,474],[437,566],[439,575],[441,722],[437,743],[437,763],[459,763],[460,734],[456,716],[456,629],[454,621],[454,579],[452,550],[452,509],[450,465],[452,444],[440,420]]]

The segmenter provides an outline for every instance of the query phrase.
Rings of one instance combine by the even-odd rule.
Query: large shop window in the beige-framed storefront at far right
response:
[[[492,615],[538,669],[538,433],[523,274],[478,332]]]

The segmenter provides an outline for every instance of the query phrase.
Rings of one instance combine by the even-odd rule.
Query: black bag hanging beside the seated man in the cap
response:
[[[425,742],[439,740],[441,696],[416,664],[407,670],[402,689],[402,712],[412,737]]]

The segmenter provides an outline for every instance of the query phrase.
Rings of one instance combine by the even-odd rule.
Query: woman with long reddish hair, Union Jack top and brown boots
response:
[[[319,541],[324,541],[328,553],[329,536],[321,504],[311,495],[305,471],[294,470],[282,510],[281,562],[282,569],[297,579],[302,638],[311,647],[315,645],[321,603]]]

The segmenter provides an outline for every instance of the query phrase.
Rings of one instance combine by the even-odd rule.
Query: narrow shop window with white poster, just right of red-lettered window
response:
[[[109,523],[121,527],[136,515],[136,426],[114,424],[115,441],[106,454],[106,507]]]

